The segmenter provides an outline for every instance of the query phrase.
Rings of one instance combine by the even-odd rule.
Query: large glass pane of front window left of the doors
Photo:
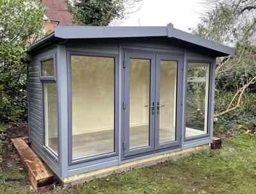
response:
[[[115,58],[71,56],[72,158],[114,152]]]

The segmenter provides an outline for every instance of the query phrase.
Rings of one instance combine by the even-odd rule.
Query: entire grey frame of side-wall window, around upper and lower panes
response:
[[[44,61],[48,61],[53,59],[53,66],[54,66],[54,76],[47,76],[47,77],[43,77],[42,76],[42,62]],[[41,105],[42,105],[42,149],[49,154],[49,156],[51,156],[51,158],[56,161],[57,163],[59,163],[59,157],[60,157],[60,124],[59,124],[59,101],[58,101],[58,82],[56,80],[56,53],[48,55],[48,56],[44,56],[41,57],[39,59],[39,73],[40,73],[40,84],[41,84]],[[56,84],[56,101],[57,101],[57,134],[58,134],[58,153],[56,155],[56,153],[54,151],[52,151],[51,147],[45,146],[45,98],[44,98],[44,84]]]

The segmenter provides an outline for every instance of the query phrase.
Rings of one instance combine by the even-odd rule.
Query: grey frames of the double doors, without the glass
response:
[[[154,118],[149,121],[154,123],[154,127],[150,128],[149,135],[153,138],[150,139],[150,146],[141,147],[138,149],[129,150],[129,59],[151,59],[150,64],[150,75],[154,78],[150,77],[150,82],[154,80],[154,89],[150,91],[150,97],[154,96],[154,103],[159,100],[159,94],[156,94],[156,84],[159,83],[157,81],[157,66],[159,68],[160,60],[166,61],[178,61],[177,65],[177,82],[176,82],[176,114],[175,114],[175,129],[176,129],[176,140],[172,142],[166,142],[163,144],[158,144],[159,142],[159,129],[156,128],[156,122],[158,122],[156,118],[156,114],[154,114]],[[152,72],[152,64],[155,68]],[[159,70],[158,70],[159,71]],[[147,155],[150,153],[157,153],[166,150],[177,149],[181,147],[182,142],[182,98],[183,98],[183,71],[184,71],[184,53],[177,52],[161,52],[154,50],[138,50],[133,48],[123,48],[122,50],[122,160],[126,160],[129,158],[136,158],[138,156]],[[159,76],[159,75],[158,75]],[[151,87],[151,86],[150,86]],[[154,91],[154,92],[152,92]],[[152,103],[152,98],[150,98],[150,103]],[[156,111],[156,107],[155,107]],[[157,142],[157,143],[156,143]]]

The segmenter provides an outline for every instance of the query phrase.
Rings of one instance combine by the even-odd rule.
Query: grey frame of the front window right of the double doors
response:
[[[195,135],[195,136],[191,136],[191,137],[186,137],[186,117],[187,117],[187,85],[188,85],[188,63],[207,63],[209,65],[209,78],[208,78],[208,101],[207,101],[207,105],[205,105],[205,107],[207,107],[207,117],[205,119],[207,119],[207,133],[202,134],[202,135]],[[186,61],[186,69],[185,69],[185,86],[184,86],[184,142],[189,141],[189,140],[195,140],[198,138],[204,138],[204,137],[209,137],[210,136],[210,127],[211,124],[209,123],[209,121],[211,121],[210,117],[211,117],[211,96],[212,96],[212,65],[213,65],[213,61],[211,60],[204,60],[204,59],[188,59]]]

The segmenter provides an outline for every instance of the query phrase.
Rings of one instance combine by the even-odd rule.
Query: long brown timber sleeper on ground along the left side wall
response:
[[[36,192],[53,189],[54,177],[24,141],[26,138],[12,138],[12,143],[24,167],[28,169],[29,181]]]

